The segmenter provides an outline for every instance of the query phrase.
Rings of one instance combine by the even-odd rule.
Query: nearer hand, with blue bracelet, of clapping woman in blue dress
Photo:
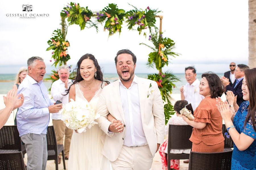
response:
[[[224,121],[231,120],[233,117],[233,113],[229,108],[228,102],[225,100],[224,102],[221,100],[220,97],[216,97],[216,106],[220,111],[221,117]]]

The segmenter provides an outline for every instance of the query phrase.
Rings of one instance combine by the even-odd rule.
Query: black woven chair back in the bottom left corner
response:
[[[22,152],[0,153],[0,170],[25,170]]]

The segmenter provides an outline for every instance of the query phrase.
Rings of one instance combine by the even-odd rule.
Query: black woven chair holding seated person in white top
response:
[[[191,149],[192,142],[189,138],[192,134],[193,127],[189,125],[169,125],[168,135],[168,170],[170,170],[171,159],[189,159],[189,154],[171,154],[171,149]]]

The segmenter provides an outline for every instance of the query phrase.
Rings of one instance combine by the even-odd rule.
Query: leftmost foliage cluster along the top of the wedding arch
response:
[[[98,26],[92,22],[90,19],[94,16],[93,12],[88,9],[88,7],[80,7],[79,3],[71,2],[61,11],[62,18],[68,18],[67,21],[69,25],[77,24],[80,26],[81,30],[85,27],[95,27],[98,32]]]

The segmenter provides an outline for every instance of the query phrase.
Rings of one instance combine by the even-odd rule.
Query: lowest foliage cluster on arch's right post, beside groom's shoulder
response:
[[[161,92],[162,99],[166,103],[164,105],[165,123],[168,122],[172,114],[175,113],[173,106],[170,102],[172,88],[175,86],[174,82],[179,81],[174,74],[167,71],[165,73],[148,75],[148,79],[156,81],[158,88]]]

